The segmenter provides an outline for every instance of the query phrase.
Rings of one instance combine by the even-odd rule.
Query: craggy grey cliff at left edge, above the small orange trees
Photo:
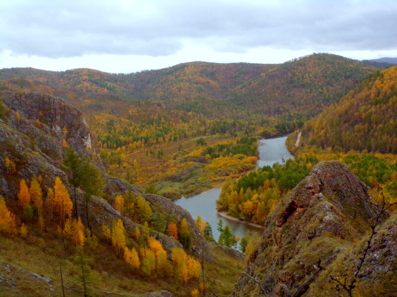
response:
[[[76,108],[59,97],[38,93],[3,91],[0,99],[0,170],[4,173],[0,194],[14,198],[19,179],[31,179],[33,175],[41,175],[46,187],[53,184],[55,176],[66,180],[65,173],[59,169],[64,139],[81,156],[93,156],[102,169],[95,152],[96,139]],[[6,157],[15,163],[15,173],[5,168]]]

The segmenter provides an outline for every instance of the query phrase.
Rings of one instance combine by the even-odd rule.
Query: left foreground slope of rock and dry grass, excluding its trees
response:
[[[94,244],[94,246],[97,245],[95,250],[90,250],[92,247],[86,247],[86,252],[95,260],[93,269],[101,272],[102,278],[106,278],[106,273],[109,273],[118,275],[118,277],[124,281],[131,278],[136,279],[140,287],[137,291],[133,292],[147,292],[144,291],[145,288],[149,291],[153,291],[153,288],[167,288],[169,291],[174,291],[177,296],[186,294],[186,290],[189,290],[190,286],[193,286],[192,281],[189,286],[180,289],[179,292],[176,289],[179,285],[177,285],[175,279],[170,281],[170,284],[165,285],[166,282],[161,277],[151,277],[145,280],[144,274],[139,274],[136,270],[131,272],[132,270],[124,262],[123,256],[117,256],[112,245],[109,245],[109,240],[106,239],[102,231],[102,225],[112,226],[115,221],[121,219],[126,234],[128,235],[128,244],[139,248],[141,243],[139,244],[132,239],[134,236],[133,234],[136,232],[136,228],[143,232],[143,226],[139,224],[137,220],[133,219],[133,217],[130,219],[130,216],[123,215],[111,206],[111,204],[114,204],[114,199],[117,195],[131,192],[132,195],[142,197],[151,208],[154,215],[149,218],[149,224],[151,224],[150,226],[152,228],[155,228],[153,226],[156,225],[156,220],[160,220],[159,217],[161,215],[163,217],[173,217],[173,220],[175,220],[178,226],[182,224],[181,221],[185,219],[192,237],[192,243],[187,246],[186,250],[191,255],[198,256],[205,254],[205,258],[211,260],[212,256],[208,253],[208,246],[190,214],[181,207],[176,206],[169,199],[156,195],[144,194],[135,186],[118,178],[108,176],[102,170],[101,160],[96,154],[96,139],[87,129],[81,112],[61,98],[38,93],[14,93],[4,91],[0,93],[0,99],[0,195],[5,198],[6,206],[16,215],[18,230],[22,222],[28,226],[29,230],[29,235],[27,237],[25,235],[22,236],[21,239],[16,238],[15,242],[13,242],[12,239],[8,240],[7,233],[4,235],[3,229],[0,230],[0,241],[4,239],[6,243],[3,254],[5,263],[3,262],[4,258],[2,256],[0,257],[0,286],[7,286],[7,290],[10,290],[7,292],[13,292],[12,294],[27,295],[28,291],[26,291],[23,284],[25,284],[25,286],[29,285],[27,285],[28,283],[24,283],[24,281],[16,281],[18,288],[24,288],[23,291],[17,293],[17,291],[13,289],[15,288],[15,277],[19,276],[19,272],[23,272],[22,274],[24,277],[21,276],[23,280],[25,276],[29,278],[30,274],[49,274],[45,269],[48,269],[46,267],[50,264],[45,261],[38,264],[33,258],[25,262],[19,254],[15,256],[14,259],[13,257],[10,258],[9,256],[5,256],[9,255],[12,249],[17,249],[18,245],[25,249],[30,249],[34,255],[40,257],[43,257],[43,253],[48,253],[49,256],[54,256],[61,261],[62,259],[68,261],[68,259],[73,258],[73,250],[75,247],[70,243],[70,240],[65,238],[65,234],[68,231],[63,231],[63,228],[66,227],[61,223],[61,226],[57,226],[58,219],[56,221],[46,219],[46,227],[43,230],[43,226],[36,223],[36,214],[33,214],[33,220],[25,219],[17,200],[17,193],[20,190],[20,180],[24,179],[30,181],[33,176],[39,176],[44,198],[49,192],[49,189],[54,186],[56,177],[60,177],[64,185],[66,185],[68,192],[73,193],[72,186],[67,181],[70,175],[60,166],[65,157],[64,145],[66,143],[69,147],[74,148],[79,156],[91,157],[92,164],[101,172],[104,180],[104,197],[92,196],[88,198],[87,212],[88,218],[91,221],[90,234],[96,235],[99,242],[99,244]],[[48,205],[48,203],[46,204],[45,202],[44,205]],[[78,214],[85,223],[87,219],[85,212],[86,198],[84,198],[84,193],[79,189],[77,189],[76,205]],[[61,218],[61,216],[59,217]],[[162,224],[165,224],[165,221]],[[65,226],[66,225],[65,223]],[[164,228],[164,225],[162,225],[159,226],[157,230],[162,231]],[[182,247],[182,245],[175,240],[174,237],[158,232],[157,230],[150,229],[149,234],[152,237],[158,238],[162,248],[168,252],[168,256],[171,259],[171,250],[174,247]],[[26,242],[24,242],[25,237]],[[141,239],[143,245],[145,245],[146,239]],[[11,241],[12,244],[10,244],[9,241]],[[29,247],[29,243],[32,244],[33,247]],[[38,246],[38,248],[35,248],[35,245]],[[8,247],[11,249],[8,250]],[[41,251],[42,247],[46,247],[45,251]],[[106,263],[106,261],[108,263]],[[30,262],[35,262],[38,266],[34,266],[35,268],[30,270],[26,264]],[[111,264],[109,262],[111,262]],[[118,265],[121,268],[117,267]],[[9,270],[12,273],[9,273]],[[27,272],[25,273],[24,271]],[[6,280],[9,278],[10,282],[3,282],[4,275]],[[51,275],[56,276],[57,272],[52,271]],[[39,283],[41,283],[41,281],[35,284],[40,286],[40,288],[42,288],[42,286],[47,289],[51,288],[48,287],[49,284],[46,282],[41,285],[39,285]],[[109,286],[109,284],[107,286]],[[198,285],[196,284],[196,286]],[[110,287],[101,288],[101,290],[109,290],[110,288],[113,290],[114,287],[110,285]],[[122,287],[118,288],[120,289]],[[76,296],[80,289],[73,287],[70,290],[73,292],[72,295]],[[190,289],[190,291],[191,290],[192,289]],[[58,289],[57,292],[59,293]],[[10,293],[8,295],[0,294],[0,296],[13,295]],[[51,296],[55,296],[55,294]],[[126,296],[131,295],[129,294]]]

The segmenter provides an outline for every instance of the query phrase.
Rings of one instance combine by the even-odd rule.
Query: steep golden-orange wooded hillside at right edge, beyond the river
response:
[[[307,122],[304,144],[397,153],[397,66],[377,72]]]

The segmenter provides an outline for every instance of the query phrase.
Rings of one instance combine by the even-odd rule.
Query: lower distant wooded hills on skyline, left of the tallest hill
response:
[[[159,70],[112,74],[93,69],[45,71],[34,68],[0,70],[0,79],[23,78],[56,89],[112,94],[130,100],[173,97],[221,97],[225,91],[273,68],[271,64],[190,62]]]

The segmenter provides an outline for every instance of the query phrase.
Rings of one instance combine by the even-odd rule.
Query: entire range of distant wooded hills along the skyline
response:
[[[167,109],[215,117],[281,115],[285,122],[318,114],[374,71],[355,60],[312,54],[281,65],[191,62],[132,74],[10,68],[0,70],[0,80],[28,79],[57,90],[161,101]]]

